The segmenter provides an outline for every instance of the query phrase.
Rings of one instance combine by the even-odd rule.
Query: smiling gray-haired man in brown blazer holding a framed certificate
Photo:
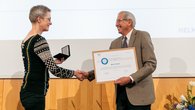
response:
[[[117,110],[150,110],[155,100],[152,73],[156,69],[156,57],[148,32],[136,30],[132,13],[121,11],[116,20],[118,32],[122,35],[110,45],[110,49],[135,47],[138,70],[115,81]],[[125,38],[126,37],[126,38]],[[126,41],[124,41],[127,39]],[[90,81],[94,71],[83,73]]]

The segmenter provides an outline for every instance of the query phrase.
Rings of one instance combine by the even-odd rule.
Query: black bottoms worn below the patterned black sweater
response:
[[[45,95],[21,90],[20,100],[25,110],[45,110]]]

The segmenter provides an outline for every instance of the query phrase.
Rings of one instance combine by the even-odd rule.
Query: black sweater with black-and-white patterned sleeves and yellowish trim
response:
[[[24,79],[21,89],[45,95],[49,87],[49,72],[57,77],[70,78],[73,70],[57,66],[51,55],[46,39],[40,35],[32,36],[22,43]]]

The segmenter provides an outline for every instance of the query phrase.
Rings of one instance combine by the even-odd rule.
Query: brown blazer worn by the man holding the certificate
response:
[[[122,36],[112,41],[110,49],[121,48]],[[127,97],[133,105],[149,105],[155,100],[152,73],[156,69],[157,61],[149,33],[133,30],[129,47],[135,47],[138,71],[132,73],[133,84],[126,85]],[[94,71],[89,72],[89,80],[95,78]]]

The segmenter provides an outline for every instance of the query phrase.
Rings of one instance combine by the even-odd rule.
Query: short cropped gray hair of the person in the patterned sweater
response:
[[[36,5],[30,9],[29,19],[31,23],[35,23],[37,17],[44,17],[47,12],[51,12],[51,9],[44,5]]]

